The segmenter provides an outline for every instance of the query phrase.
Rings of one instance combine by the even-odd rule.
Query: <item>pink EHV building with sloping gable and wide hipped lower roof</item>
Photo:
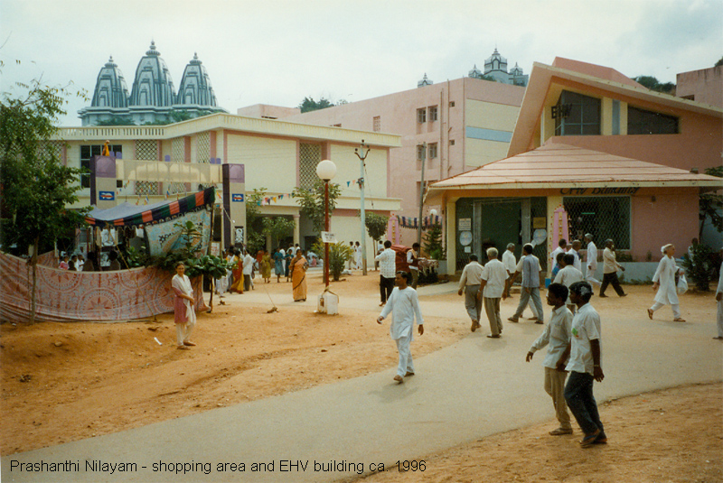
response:
[[[585,62],[535,63],[506,159],[430,186],[428,202],[444,206],[447,272],[510,242],[519,255],[537,240],[547,260],[559,237],[587,232],[636,261],[660,259],[665,243],[681,251],[699,234],[700,193],[723,184],[698,174],[720,165],[721,133],[720,107]]]

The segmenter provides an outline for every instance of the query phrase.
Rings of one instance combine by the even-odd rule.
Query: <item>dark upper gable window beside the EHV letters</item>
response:
[[[552,118],[555,135],[600,135],[600,99],[563,90]]]

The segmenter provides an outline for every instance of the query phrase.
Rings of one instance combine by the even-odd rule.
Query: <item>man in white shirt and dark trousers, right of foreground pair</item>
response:
[[[593,443],[605,443],[607,437],[600,414],[597,411],[593,395],[594,381],[605,378],[602,367],[600,346],[600,316],[590,305],[593,287],[587,282],[577,282],[570,286],[570,301],[577,305],[577,314],[572,319],[572,337],[570,345],[559,358],[558,367],[569,371],[568,384],[565,386],[565,401],[577,424],[585,433],[580,441],[582,448]],[[565,358],[569,361],[565,366]]]

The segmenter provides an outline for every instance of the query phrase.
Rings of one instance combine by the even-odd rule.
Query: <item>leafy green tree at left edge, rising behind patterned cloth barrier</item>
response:
[[[0,99],[0,234],[3,246],[33,246],[33,323],[38,253],[83,226],[89,209],[66,209],[78,201],[81,171],[64,166],[52,149],[58,117],[65,114],[67,88],[43,86],[39,79],[17,86],[27,94],[14,98],[4,92]]]

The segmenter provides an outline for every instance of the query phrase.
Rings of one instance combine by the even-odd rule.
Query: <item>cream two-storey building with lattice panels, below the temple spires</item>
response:
[[[365,208],[389,216],[399,209],[399,200],[390,196],[387,176],[390,149],[400,144],[396,135],[215,114],[164,126],[61,128],[53,148],[63,163],[73,167],[89,167],[90,158],[100,154],[105,141],[109,141],[112,156],[124,160],[128,166],[132,166],[133,161],[163,165],[163,169],[159,166],[158,170],[162,174],[146,176],[146,181],[128,181],[139,177],[134,174],[131,178],[130,172],[119,173],[115,192],[117,203],[154,203],[207,187],[202,183],[179,182],[174,172],[202,172],[203,166],[215,164],[243,165],[247,193],[254,189],[266,192],[259,208],[261,215],[294,219],[294,242],[309,248],[318,233],[302,216],[291,193],[296,188],[310,189],[314,185],[318,180],[316,165],[323,159],[331,159],[336,164],[337,174],[332,182],[342,187],[333,212],[332,230],[339,239],[361,240],[359,191],[349,188],[347,182],[359,177],[354,149],[362,139],[371,145],[367,165],[377,173],[375,183],[367,187]],[[143,169],[150,172],[153,164],[144,163]],[[96,202],[91,200],[89,181],[83,179],[81,183],[80,200],[72,208]],[[222,187],[218,188],[222,192]],[[222,206],[224,200],[217,200]],[[239,201],[245,202],[242,198]],[[227,216],[218,208],[216,215],[219,222]],[[224,245],[230,242],[217,241]],[[367,246],[370,257],[370,238]]]

